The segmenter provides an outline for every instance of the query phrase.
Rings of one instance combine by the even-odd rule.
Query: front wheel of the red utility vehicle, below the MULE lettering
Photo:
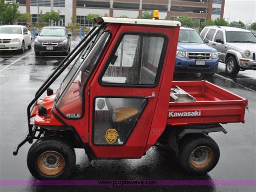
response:
[[[27,164],[30,173],[38,180],[61,180],[73,172],[76,155],[64,141],[43,138],[30,147]]]

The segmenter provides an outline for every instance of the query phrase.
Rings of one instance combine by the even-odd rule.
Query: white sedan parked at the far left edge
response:
[[[25,26],[0,26],[0,51],[19,50],[24,52],[25,47],[31,49],[31,45],[31,33]]]

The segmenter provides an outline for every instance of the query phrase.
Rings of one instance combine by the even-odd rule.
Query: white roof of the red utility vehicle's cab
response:
[[[131,19],[131,18],[117,18],[117,17],[102,17],[101,21],[104,22],[104,23],[122,23],[122,24],[137,24],[137,25],[161,25],[161,26],[176,26],[176,27],[181,26],[180,22],[177,22],[177,21],[158,20],[158,19]]]

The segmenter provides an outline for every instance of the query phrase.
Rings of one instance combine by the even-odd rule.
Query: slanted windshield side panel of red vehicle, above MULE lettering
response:
[[[66,118],[80,118],[82,116],[83,87],[110,38],[109,32],[103,32],[102,35],[99,35],[85,47],[63,81],[63,93],[56,106]]]

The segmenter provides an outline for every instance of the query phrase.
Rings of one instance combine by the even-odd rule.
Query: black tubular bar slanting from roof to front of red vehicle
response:
[[[54,70],[54,72],[48,77],[48,79],[42,84],[42,86],[37,90],[36,94],[35,94],[35,98],[33,98],[33,100],[29,103],[28,108],[27,108],[27,115],[28,115],[28,133],[25,136],[25,139],[19,143],[16,147],[15,150],[13,152],[14,155],[18,154],[18,150],[19,148],[24,145],[27,141],[29,143],[33,143],[33,139],[38,139],[42,133],[39,133],[40,136],[36,137],[35,136],[35,132],[38,131],[37,126],[32,125],[30,123],[30,118],[31,118],[31,106],[35,106],[37,104],[37,99],[43,95],[43,93],[51,86],[51,84],[59,77],[60,74],[62,74],[62,72],[70,65],[70,63],[76,58],[76,56],[83,51],[83,49],[85,48],[85,46],[94,38],[95,35],[91,35],[93,32],[95,32],[95,34],[97,34],[101,29],[103,29],[103,27],[105,26],[105,23],[102,23],[100,25],[95,25],[90,31],[89,33],[86,34],[85,38],[83,38],[79,44],[69,53],[68,56],[66,56],[66,58],[60,62],[60,64],[58,65],[58,67]],[[98,27],[98,29],[97,29]],[[82,45],[82,46],[81,46]],[[80,48],[78,48],[79,46],[81,46]],[[76,53],[75,53],[76,52]],[[73,54],[75,53],[75,54]],[[72,55],[72,56],[71,56]],[[71,56],[71,58],[70,58]],[[67,61],[69,59],[69,61]],[[67,62],[66,62],[67,61]],[[65,63],[66,62],[66,63]],[[65,65],[64,65],[65,63]],[[60,69],[60,70],[59,70]],[[35,126],[35,130],[33,130],[33,126]]]

